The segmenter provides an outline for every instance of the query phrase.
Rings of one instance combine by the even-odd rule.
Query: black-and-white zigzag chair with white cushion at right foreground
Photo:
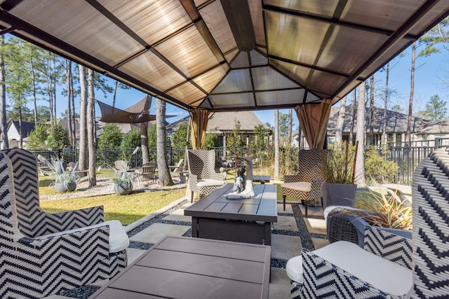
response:
[[[346,241],[303,249],[286,265],[292,298],[447,298],[448,190],[449,147],[413,173],[412,239],[366,225],[363,249]]]

